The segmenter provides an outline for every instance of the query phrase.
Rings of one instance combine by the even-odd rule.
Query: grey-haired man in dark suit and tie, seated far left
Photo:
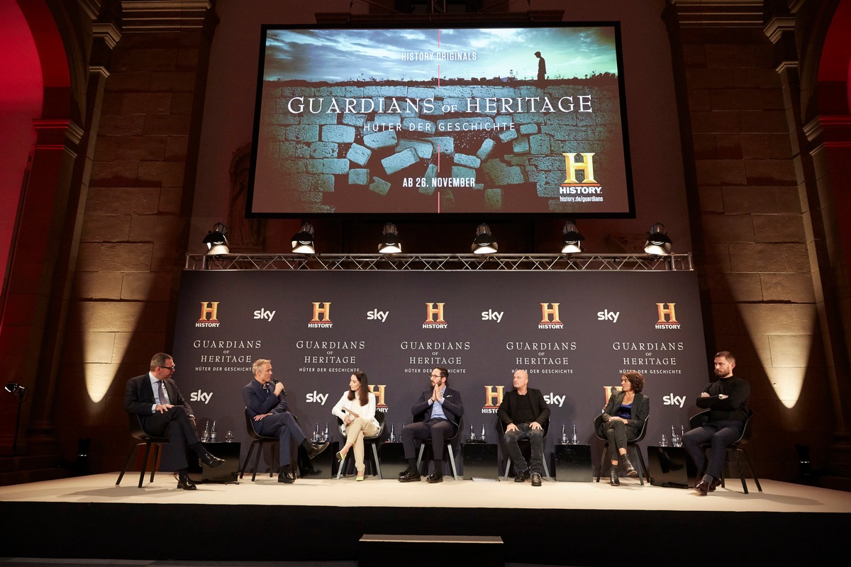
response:
[[[170,458],[178,463],[175,471],[177,487],[195,490],[196,486],[188,474],[187,448],[195,451],[208,467],[218,467],[225,461],[210,455],[198,439],[192,408],[171,379],[174,368],[171,354],[154,354],[151,371],[128,380],[124,390],[124,410],[139,416],[147,434],[168,437],[168,445],[163,451],[169,451]]]

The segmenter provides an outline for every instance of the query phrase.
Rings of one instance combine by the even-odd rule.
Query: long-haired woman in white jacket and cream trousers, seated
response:
[[[337,453],[340,466],[346,453],[354,447],[357,480],[363,480],[363,437],[370,437],[379,431],[375,420],[375,394],[369,391],[365,372],[357,371],[351,375],[349,389],[334,405],[331,413],[343,420],[340,430],[346,435],[346,445]]]

